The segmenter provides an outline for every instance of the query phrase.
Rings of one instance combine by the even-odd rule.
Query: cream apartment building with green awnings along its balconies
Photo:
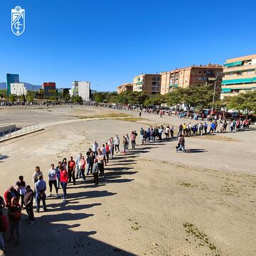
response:
[[[256,54],[228,59],[223,72],[220,98],[256,90]]]

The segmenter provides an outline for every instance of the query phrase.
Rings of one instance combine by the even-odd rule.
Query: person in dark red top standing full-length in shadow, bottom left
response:
[[[14,231],[16,231],[16,244],[21,241],[21,206],[18,204],[16,198],[11,198],[11,207],[8,211],[11,237],[9,240],[14,239]]]

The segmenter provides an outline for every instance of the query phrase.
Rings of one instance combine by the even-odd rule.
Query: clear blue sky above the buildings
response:
[[[89,80],[115,90],[140,73],[224,63],[256,53],[256,1],[1,0],[0,82],[6,73],[41,85]],[[11,32],[11,9],[26,31]]]

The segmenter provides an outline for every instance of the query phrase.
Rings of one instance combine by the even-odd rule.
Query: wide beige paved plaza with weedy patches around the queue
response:
[[[17,126],[45,128],[0,143],[1,196],[19,175],[31,185],[35,166],[48,184],[51,163],[85,154],[94,140],[102,145],[149,125],[174,125],[177,132],[191,122],[85,106],[1,107],[0,113]],[[33,225],[23,210],[21,243],[6,243],[6,255],[256,255],[255,135],[188,137],[186,154],[176,153],[176,140],[117,154],[97,186],[92,176],[68,184],[65,206],[48,198]]]

